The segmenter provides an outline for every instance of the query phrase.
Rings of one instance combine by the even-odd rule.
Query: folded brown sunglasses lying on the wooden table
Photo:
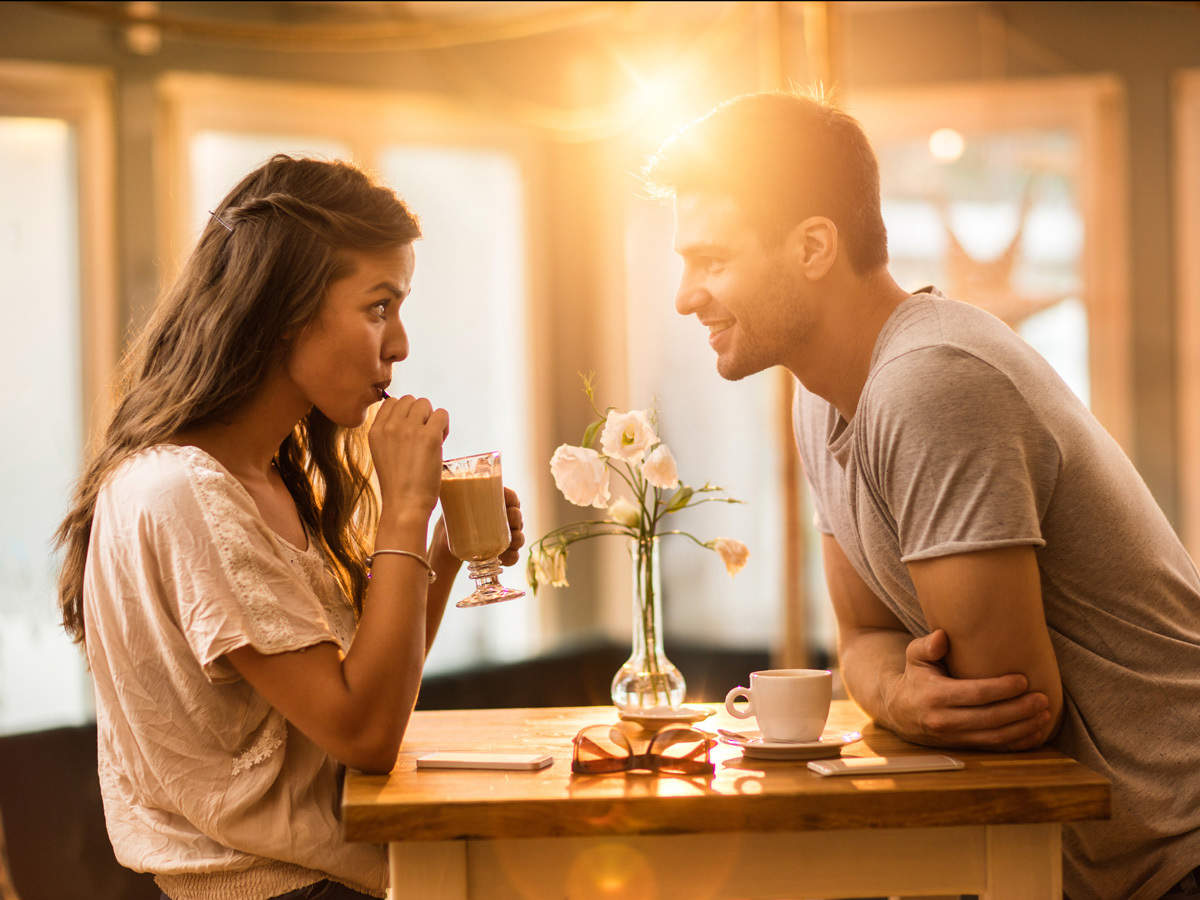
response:
[[[664,728],[647,739],[637,731],[629,722],[581,728],[571,742],[571,772],[577,775],[635,770],[710,775],[716,770],[708,760],[716,739],[708,732],[679,726]]]

